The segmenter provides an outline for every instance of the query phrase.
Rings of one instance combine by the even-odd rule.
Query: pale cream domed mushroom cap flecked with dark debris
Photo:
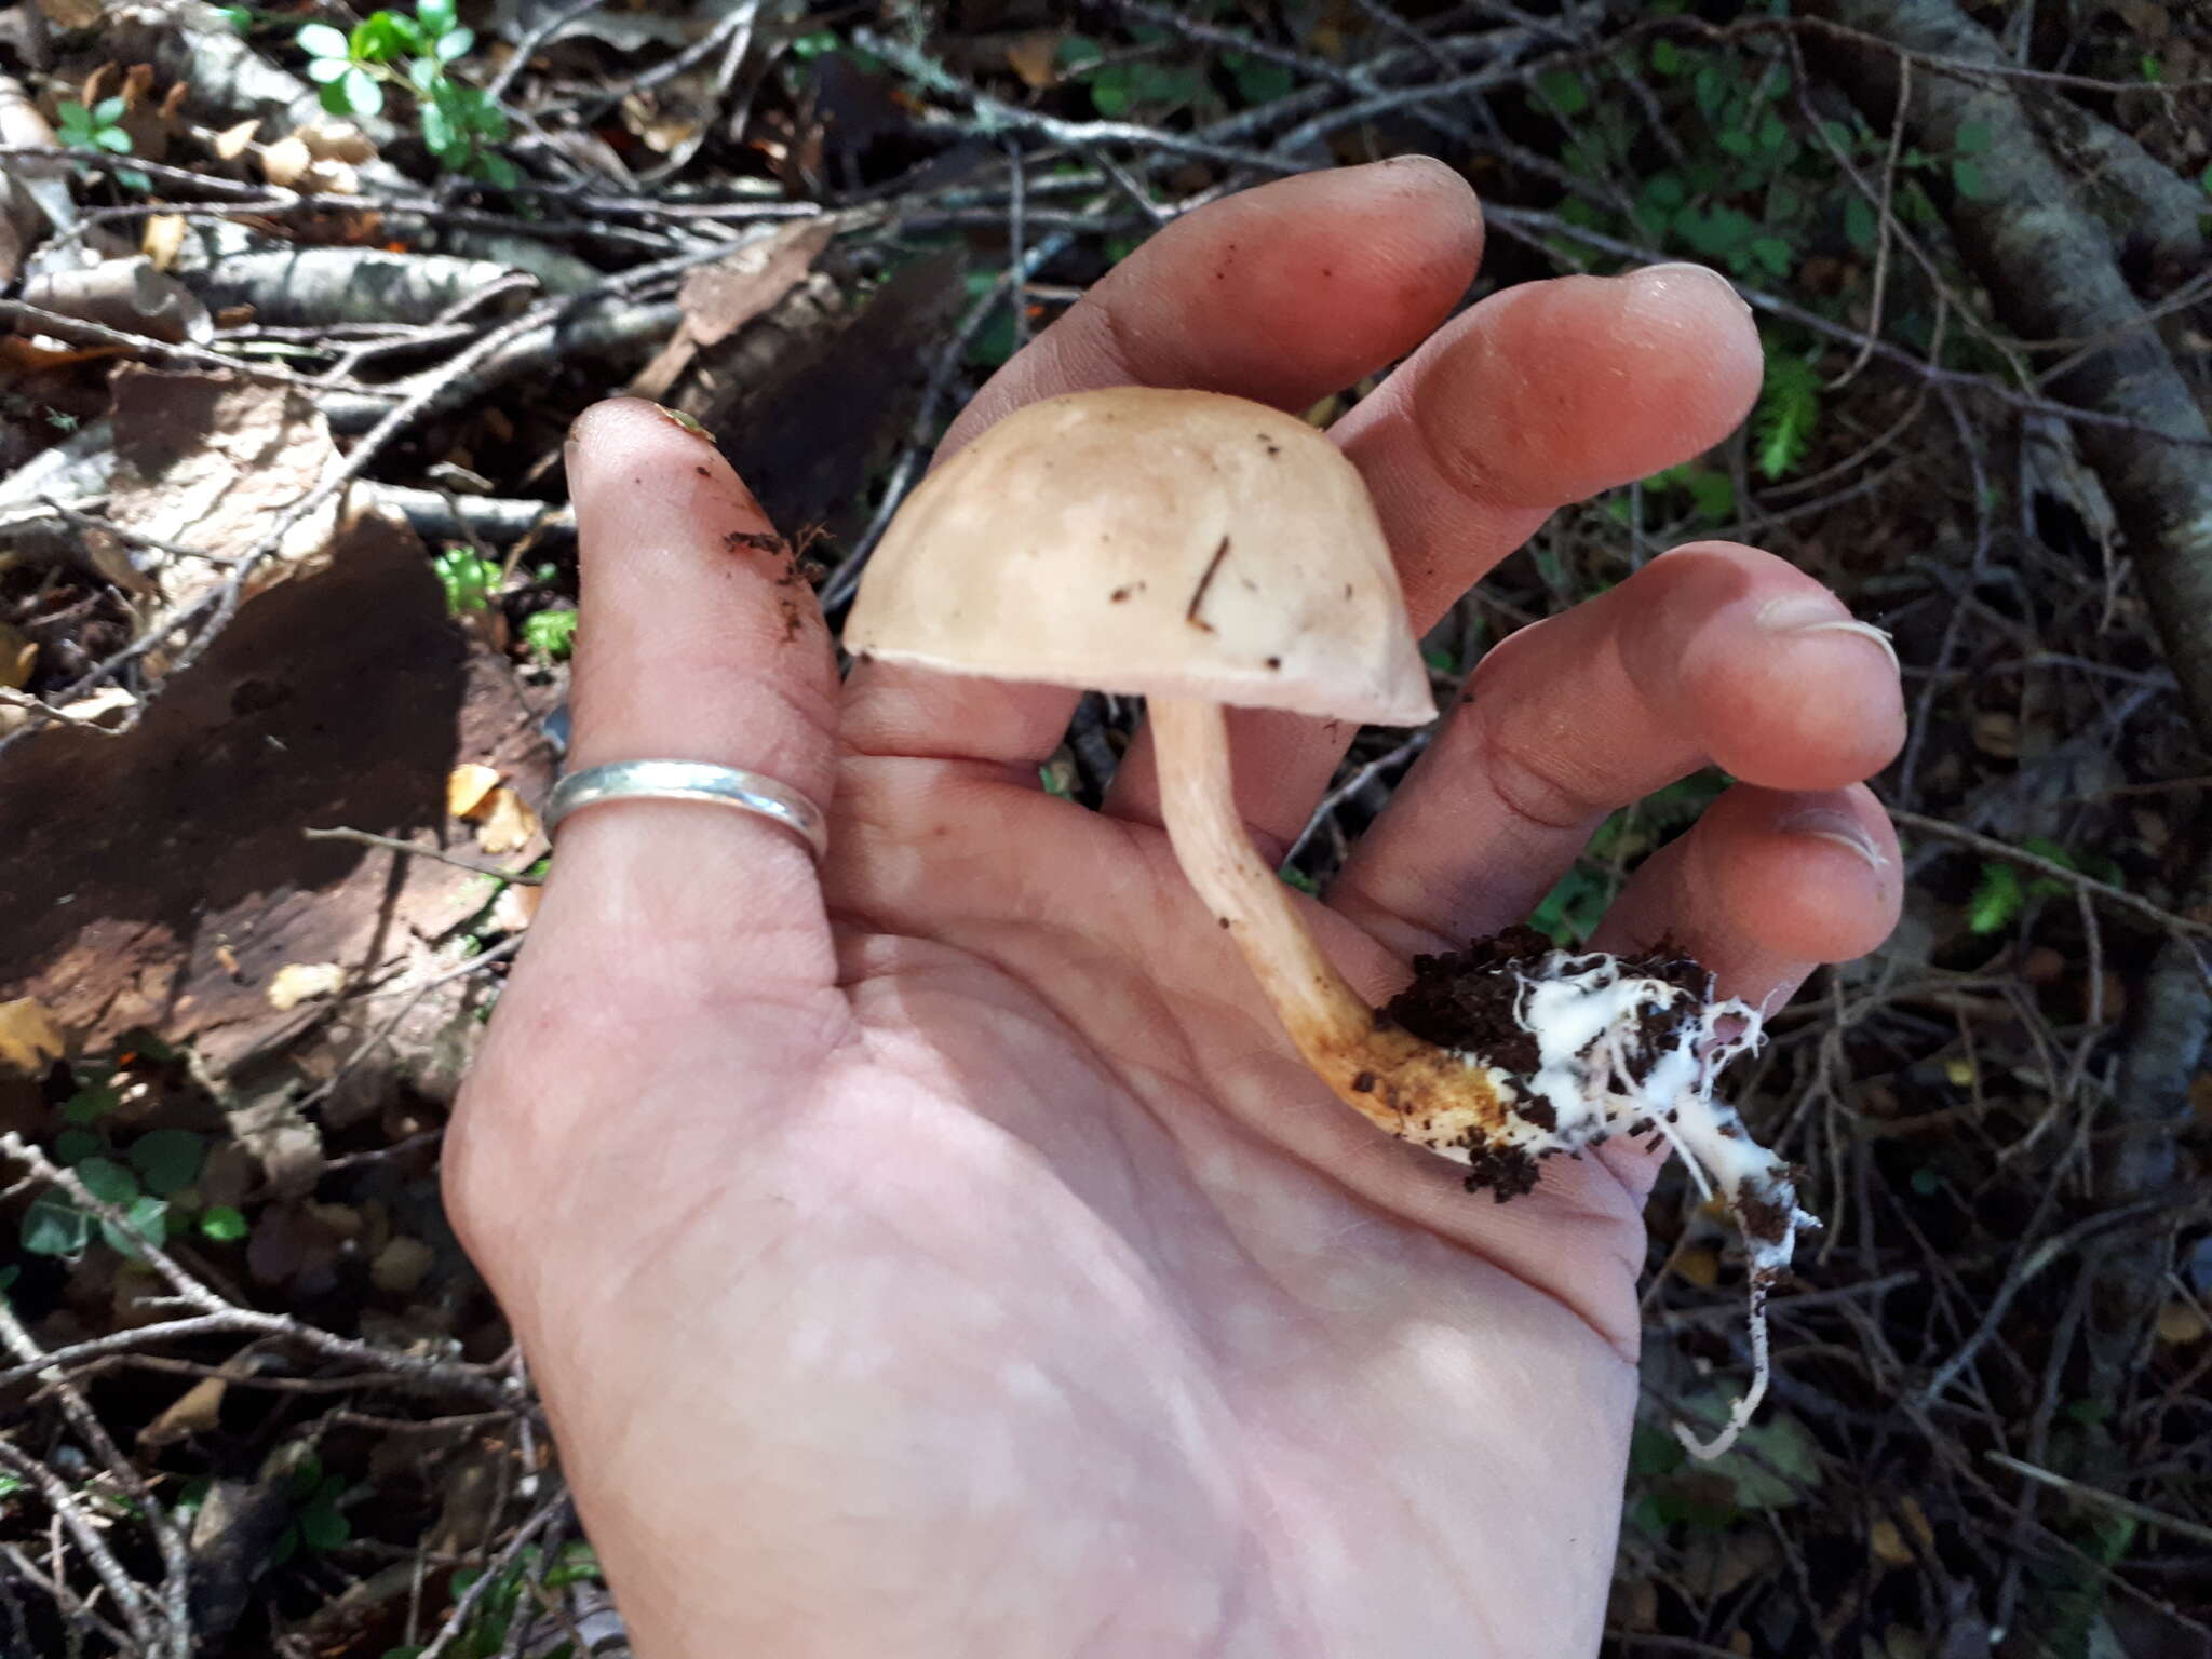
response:
[[[1358,469],[1214,392],[1020,409],[898,509],[845,648],[960,675],[1420,726],[1436,717]]]

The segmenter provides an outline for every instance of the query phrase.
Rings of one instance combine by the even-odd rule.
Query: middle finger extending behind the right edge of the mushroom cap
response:
[[[1759,332],[1701,265],[1522,283],[1438,334],[1332,436],[1374,493],[1413,630],[1546,513],[1725,438],[1759,396]],[[1239,712],[1237,794],[1276,845],[1296,836],[1352,741],[1347,726]],[[1108,812],[1159,821],[1139,739]]]

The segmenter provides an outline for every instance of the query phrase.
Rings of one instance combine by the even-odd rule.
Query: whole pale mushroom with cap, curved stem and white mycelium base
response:
[[[1509,1199],[1535,1159],[1666,1135],[1752,1239],[1754,1305],[1790,1259],[1785,1166],[1712,1077],[1759,1013],[1601,953],[1522,951],[1511,1018],[1533,1068],[1378,1015],[1321,951],[1237,812],[1223,706],[1418,726],[1436,717],[1358,469],[1281,409],[1115,387],[1026,405],[891,520],[845,622],[858,657],[1146,697],[1168,836],[1307,1066],[1376,1126]],[[1495,1000],[1495,998],[1493,998]],[[1754,1349],[1765,1376],[1763,1325]],[[1723,1440],[1756,1400],[1732,1413]]]

